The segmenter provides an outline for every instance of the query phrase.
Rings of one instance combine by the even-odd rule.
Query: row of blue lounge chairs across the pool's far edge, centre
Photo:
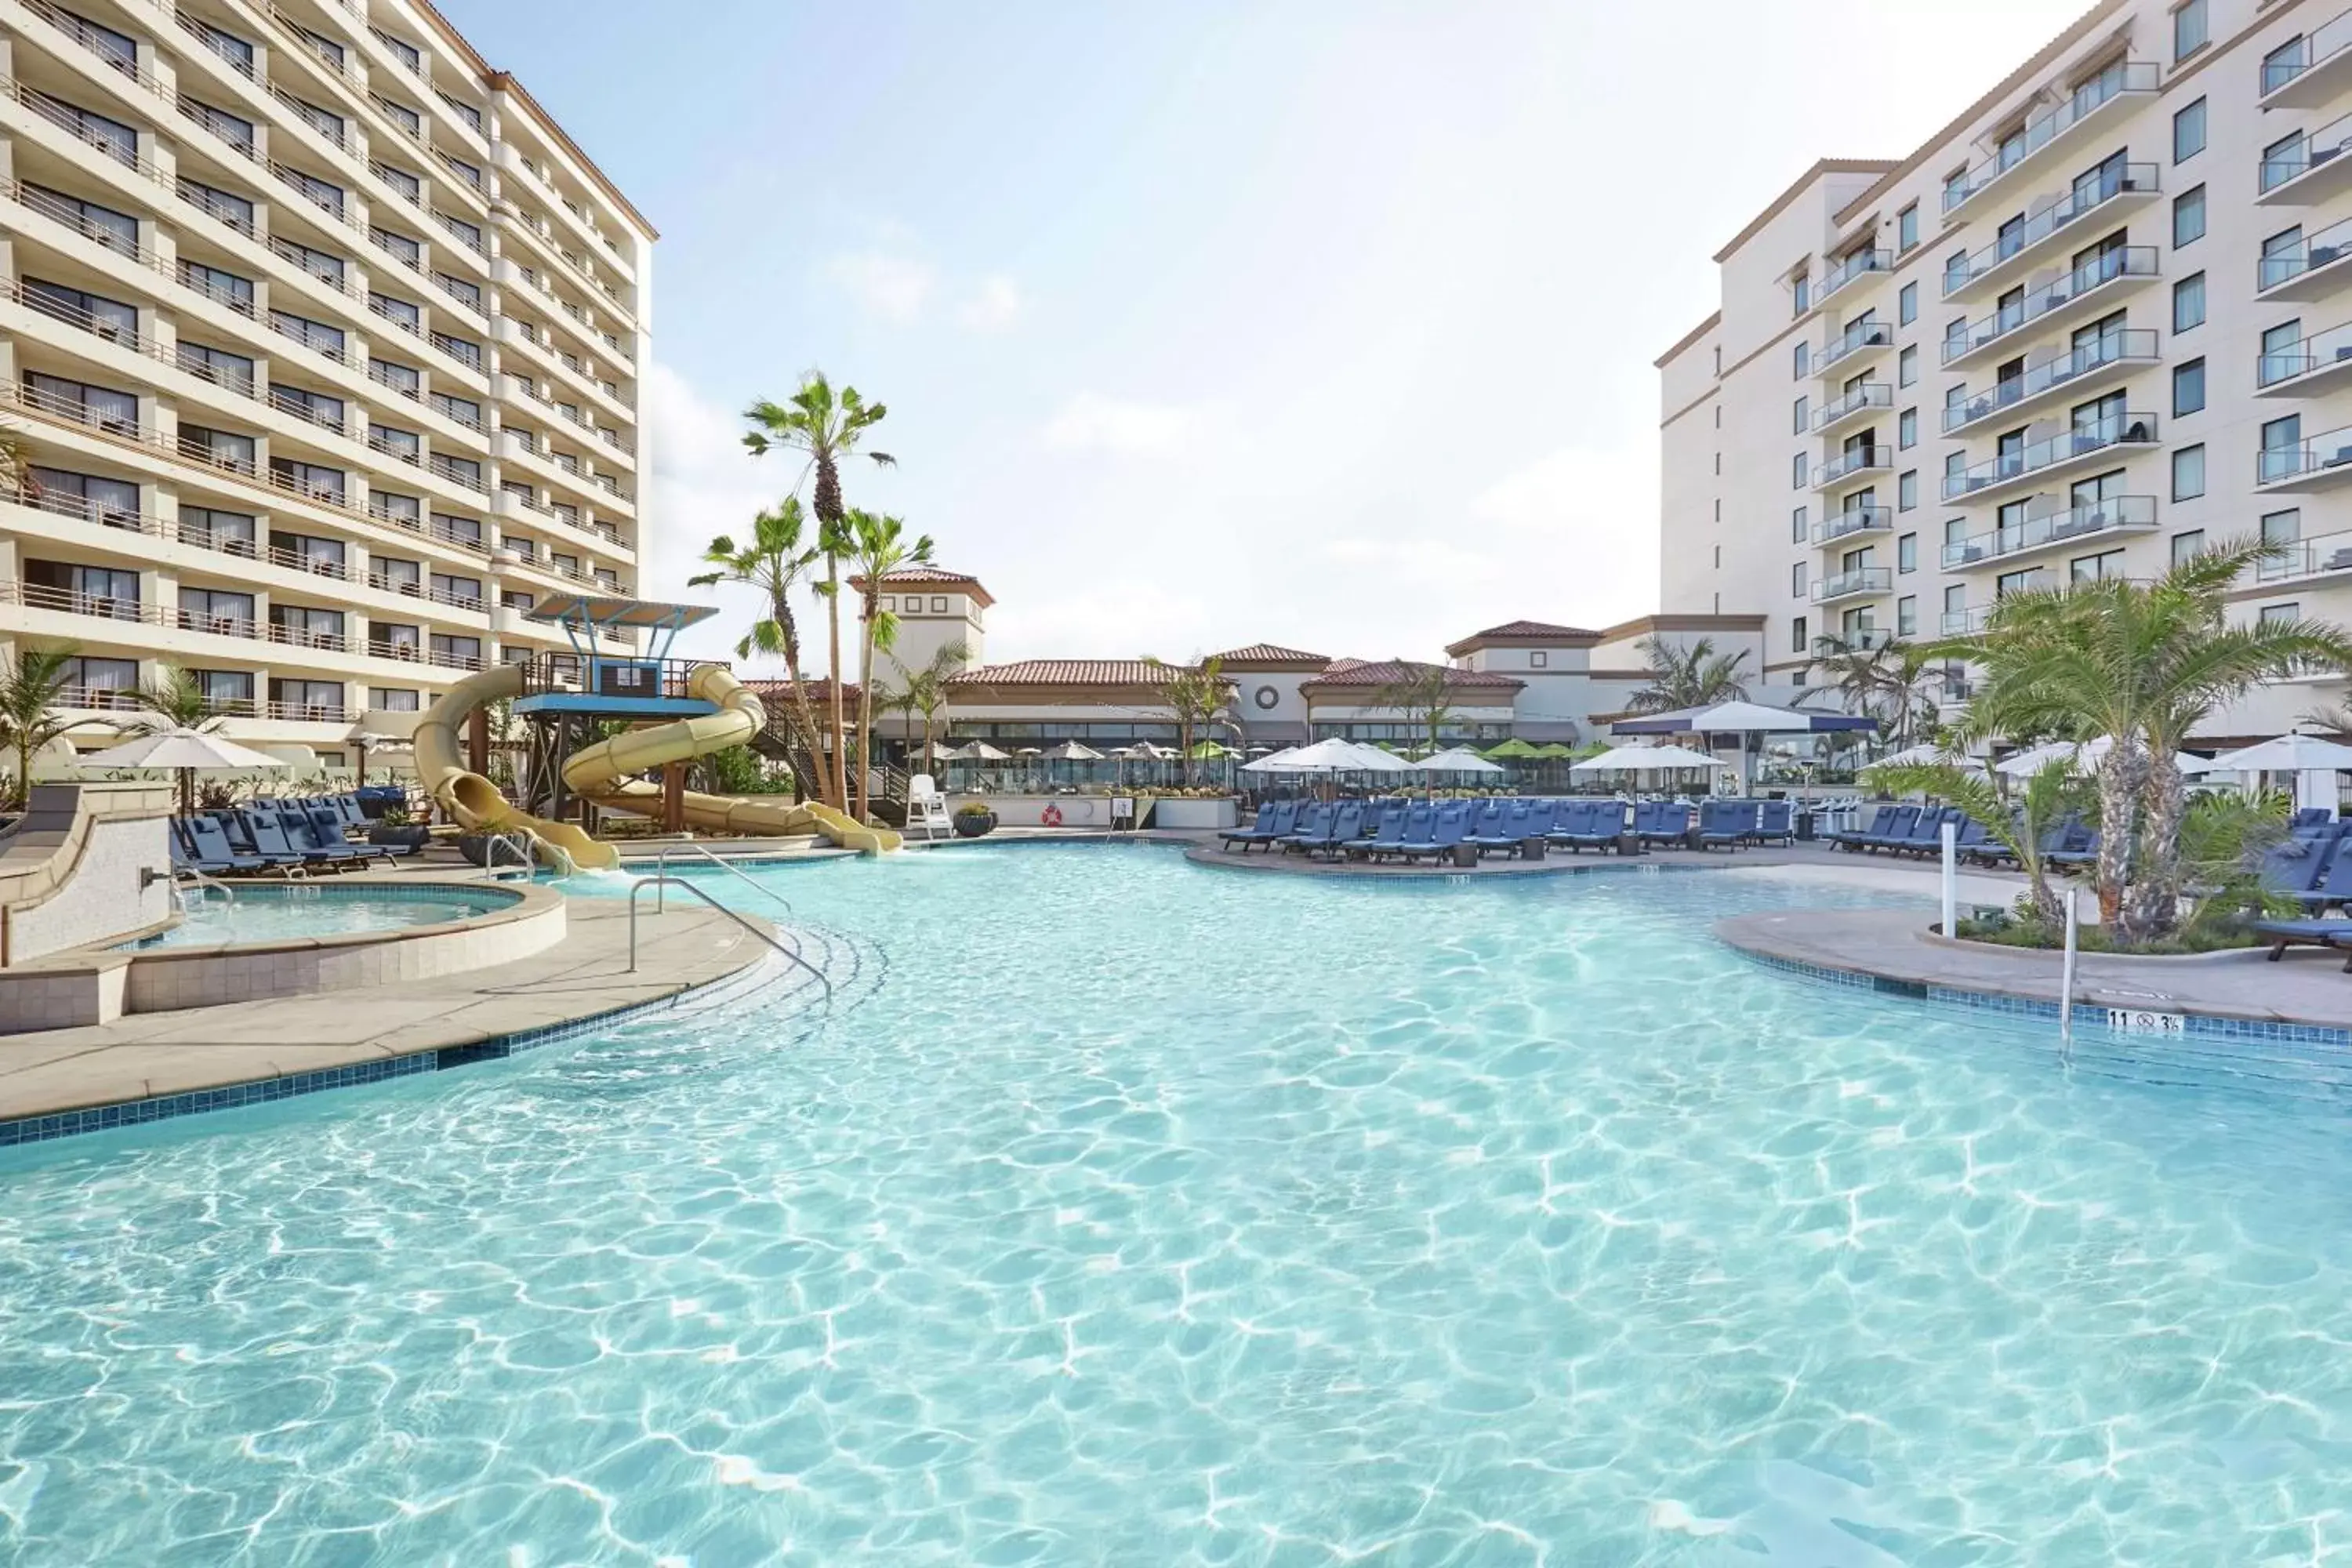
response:
[[[1618,799],[1345,799],[1345,802],[1270,802],[1249,827],[1218,835],[1225,849],[1296,851],[1338,860],[1430,860],[1486,853],[1526,853],[1545,849],[1625,849],[1696,844],[1700,849],[1736,849],[1740,844],[1788,842],[1795,837],[1790,802],[1705,802],[1696,816],[1679,802],[1642,802],[1628,823]]]

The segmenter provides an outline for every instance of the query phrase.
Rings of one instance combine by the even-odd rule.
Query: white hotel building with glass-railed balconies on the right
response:
[[[2347,148],[2343,0],[2103,0],[1898,162],[1813,165],[1658,360],[1668,611],[1762,614],[1797,686],[2260,534],[2234,616],[2352,621]]]

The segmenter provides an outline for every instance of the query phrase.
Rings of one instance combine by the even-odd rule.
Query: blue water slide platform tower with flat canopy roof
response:
[[[524,621],[553,625],[572,644],[569,654],[534,654],[522,665],[515,717],[529,724],[524,809],[562,820],[583,802],[567,799],[564,759],[595,741],[604,722],[668,722],[717,712],[717,703],[687,689],[703,658],[670,658],[677,632],[720,614],[713,604],[663,604],[604,595],[555,595],[534,604]],[[644,649],[630,649],[626,632],[647,632]]]

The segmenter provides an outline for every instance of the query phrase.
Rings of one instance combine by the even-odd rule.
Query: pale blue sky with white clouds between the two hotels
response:
[[[1658,609],[1653,360],[1816,158],[1903,158],[2089,0],[440,0],[661,230],[642,597],[800,480],[985,654],[1442,658]],[[724,656],[753,614],[682,651]]]

